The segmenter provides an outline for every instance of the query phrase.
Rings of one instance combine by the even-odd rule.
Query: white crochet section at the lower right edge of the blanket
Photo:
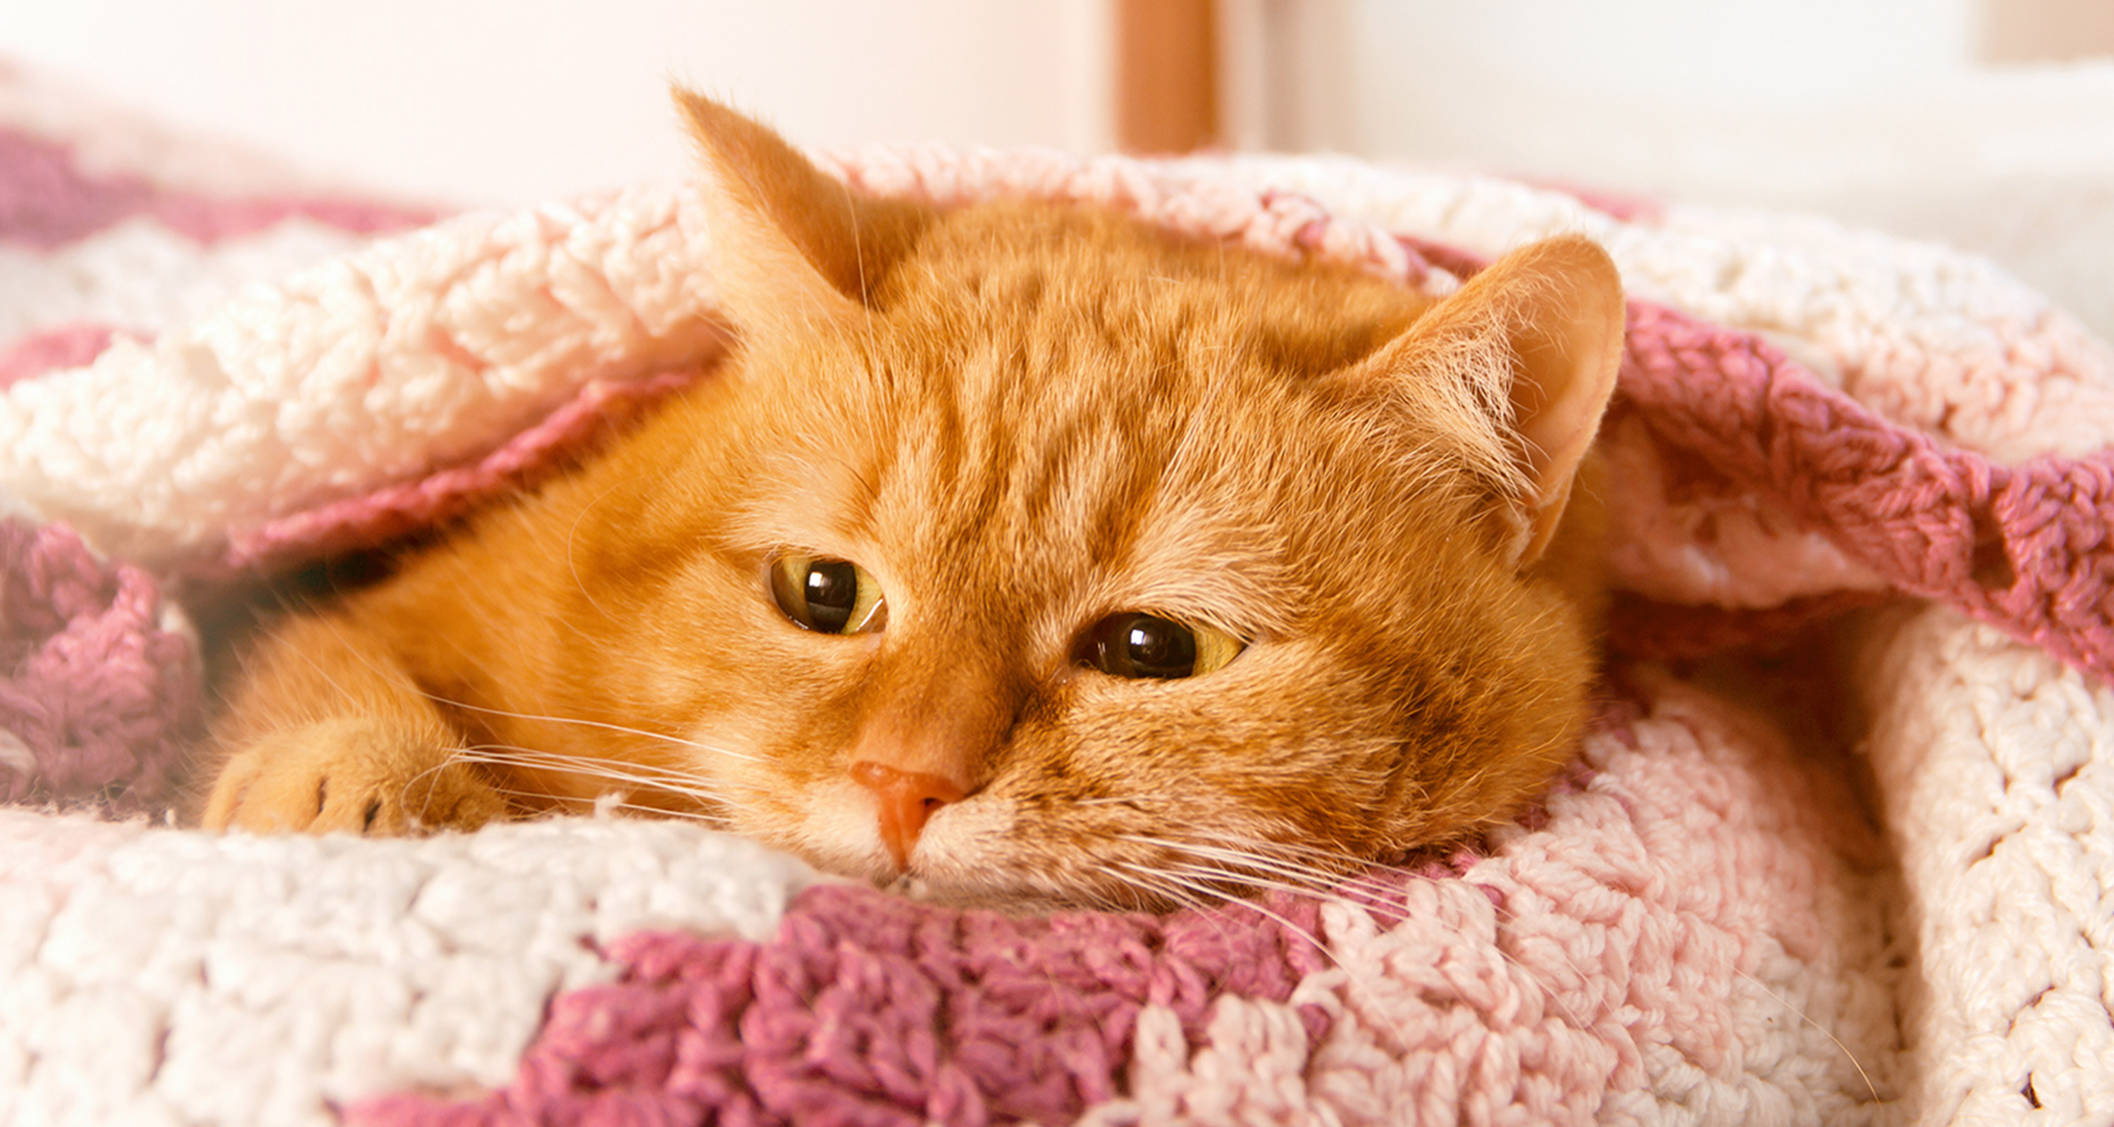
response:
[[[2114,689],[1943,607],[1875,615],[1854,683],[1917,890],[1917,1123],[2108,1123]]]

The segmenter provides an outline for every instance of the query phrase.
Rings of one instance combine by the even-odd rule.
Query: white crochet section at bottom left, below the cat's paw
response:
[[[326,1125],[501,1085],[641,928],[767,939],[814,873],[681,823],[425,839],[205,835],[0,810],[0,1123]]]

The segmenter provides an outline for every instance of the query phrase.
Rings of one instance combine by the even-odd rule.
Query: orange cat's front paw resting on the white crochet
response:
[[[505,818],[499,791],[448,755],[361,719],[275,732],[226,761],[201,820],[254,833],[402,835]]]

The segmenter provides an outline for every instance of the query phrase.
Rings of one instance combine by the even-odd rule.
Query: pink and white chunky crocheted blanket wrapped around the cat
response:
[[[433,222],[0,68],[0,1121],[2103,1123],[2114,351],[2076,321],[1818,220],[1340,159],[833,169],[1433,290],[1602,241],[1621,598],[1575,768],[1480,848],[1163,918],[674,823],[163,825],[182,607],[710,378],[710,237],[681,186]]]

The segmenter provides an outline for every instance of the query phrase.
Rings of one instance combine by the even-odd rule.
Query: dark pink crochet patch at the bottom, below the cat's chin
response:
[[[636,935],[615,985],[552,1002],[518,1078],[484,1100],[389,1095],[361,1127],[1068,1123],[1123,1093],[1144,1004],[1199,1036],[1222,994],[1285,1000],[1323,966],[1277,899],[1167,918],[1006,918],[865,888],[801,894],[765,945]],[[1304,1011],[1311,1038],[1328,1026]]]

